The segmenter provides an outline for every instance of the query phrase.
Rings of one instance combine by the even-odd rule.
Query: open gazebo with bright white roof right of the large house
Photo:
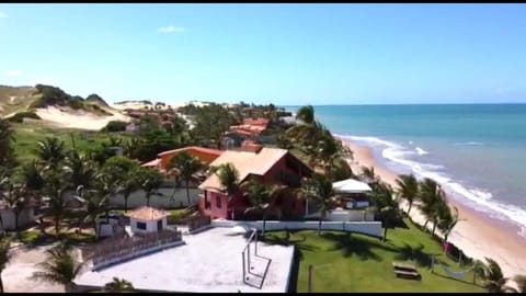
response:
[[[369,206],[369,201],[366,194],[373,190],[367,183],[354,179],[346,179],[334,182],[332,189],[336,194],[336,203],[343,208],[361,208]]]

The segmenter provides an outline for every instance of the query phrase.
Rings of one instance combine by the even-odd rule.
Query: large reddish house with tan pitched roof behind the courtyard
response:
[[[256,151],[224,151],[210,166],[232,163],[239,172],[239,182],[255,178],[266,184],[282,185],[279,193],[271,202],[271,208],[279,208],[283,216],[302,216],[305,202],[294,194],[302,177],[309,177],[311,169],[289,151],[276,148],[262,148]],[[230,198],[222,192],[216,174],[210,174],[199,186],[203,194],[198,198],[199,210],[214,218],[243,216],[248,201],[242,192]]]

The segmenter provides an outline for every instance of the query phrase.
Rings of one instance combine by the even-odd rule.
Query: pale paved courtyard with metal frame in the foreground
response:
[[[253,269],[248,274],[248,283],[251,284],[248,285],[242,278],[241,255],[247,239],[236,234],[236,228],[210,228],[183,236],[183,240],[185,244],[180,247],[98,271],[87,271],[75,282],[78,285],[101,287],[116,276],[132,282],[135,288],[148,291],[287,292],[294,247],[258,242],[260,257],[251,258]],[[251,248],[253,250],[253,244]]]

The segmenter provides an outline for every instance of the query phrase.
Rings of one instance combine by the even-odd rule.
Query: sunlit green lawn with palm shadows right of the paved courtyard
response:
[[[297,278],[293,273],[296,292],[308,292],[308,266],[311,264],[312,292],[484,292],[472,284],[473,275],[464,278],[446,277],[442,270],[430,266],[430,254],[447,264],[451,270],[465,270],[443,253],[441,246],[428,234],[422,232],[408,219],[408,228],[390,229],[388,241],[377,238],[339,231],[322,231],[317,236],[312,230],[290,234],[299,258]],[[284,243],[285,232],[267,232],[268,242]],[[408,258],[412,257],[412,260]],[[410,261],[418,266],[421,281],[397,278],[392,261]],[[298,269],[297,269],[298,270]]]

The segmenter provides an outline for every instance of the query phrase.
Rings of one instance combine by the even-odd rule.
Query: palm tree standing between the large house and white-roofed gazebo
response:
[[[312,178],[306,182],[302,191],[307,198],[313,200],[319,206],[320,219],[318,224],[318,235],[320,235],[321,221],[327,218],[328,213],[331,210],[331,198],[334,195],[332,182],[325,175],[315,173]]]

